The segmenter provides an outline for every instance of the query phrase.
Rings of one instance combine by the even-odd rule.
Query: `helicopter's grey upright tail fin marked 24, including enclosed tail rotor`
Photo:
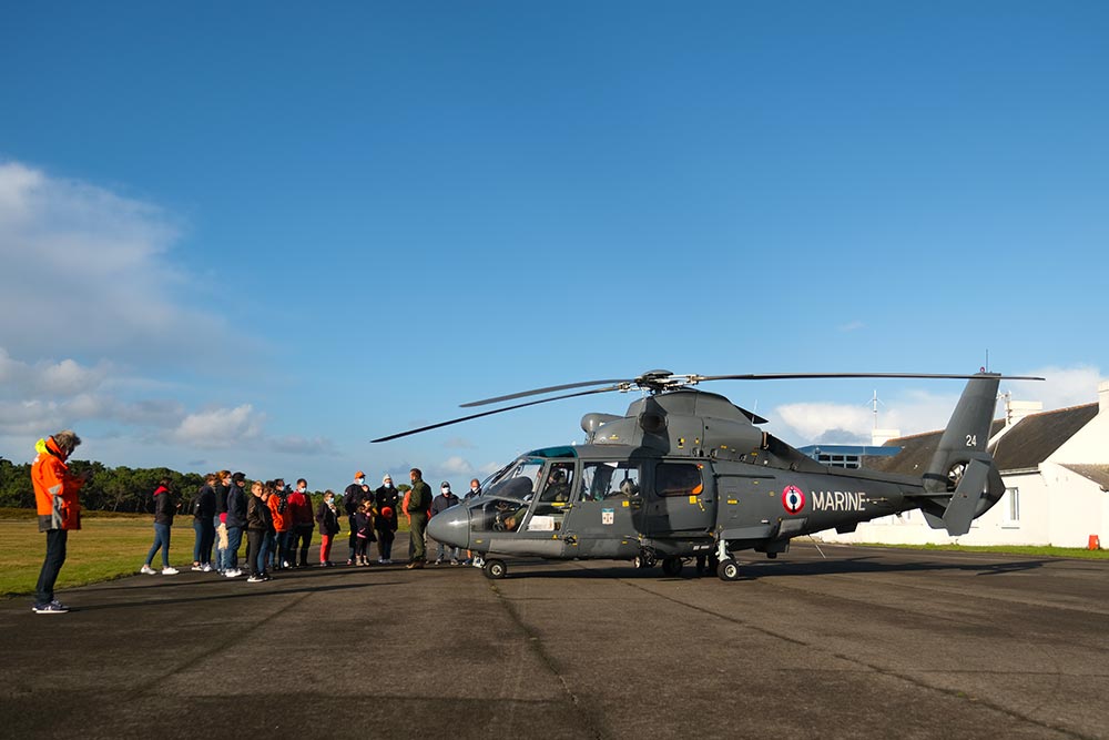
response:
[[[922,507],[928,524],[952,536],[967,534],[970,521],[1005,493],[994,458],[986,452],[1000,379],[996,373],[978,373],[967,381],[924,475],[924,489],[933,495]]]

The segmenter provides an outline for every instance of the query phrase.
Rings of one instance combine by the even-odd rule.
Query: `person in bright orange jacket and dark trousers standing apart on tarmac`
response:
[[[88,473],[75,476],[65,460],[81,444],[72,429],[39,439],[34,446],[38,455],[31,464],[31,483],[34,485],[34,504],[39,513],[39,531],[47,533],[47,557],[39,572],[35,587],[35,614],[65,614],[69,609],[54,598],[54,581],[65,562],[65,540],[70,529],[81,528],[81,504],[78,491],[89,479]]]

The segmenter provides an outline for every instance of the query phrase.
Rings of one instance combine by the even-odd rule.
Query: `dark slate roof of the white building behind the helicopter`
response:
[[[1030,414],[1019,422],[990,448],[997,469],[1001,473],[1006,470],[1022,470],[1036,468],[1051,454],[1059,449],[1065,442],[1075,436],[1079,429],[1089,424],[1090,419],[1098,415],[1098,404],[1083,404],[1082,406],[1071,406],[1056,410],[1044,412],[1041,414]],[[995,419],[989,427],[989,437],[993,439],[997,433],[1005,428],[1004,419]],[[939,438],[943,429],[937,432],[925,432],[908,437],[891,439],[887,446],[901,447],[902,452],[893,457],[866,457],[863,466],[874,470],[885,473],[901,473],[903,475],[924,475],[932,462],[932,456],[939,446]],[[1075,466],[1080,468],[1100,468],[1102,466]],[[1074,469],[1074,468],[1071,468]],[[1079,475],[1090,478],[1105,487],[1101,479],[1091,477],[1097,474],[1095,470],[1082,473],[1075,470]],[[1109,475],[1109,474],[1107,474]]]

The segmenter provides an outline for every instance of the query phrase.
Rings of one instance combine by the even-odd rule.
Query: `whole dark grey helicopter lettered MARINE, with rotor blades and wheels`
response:
[[[966,388],[924,475],[828,467],[757,428],[766,419],[693,386],[708,381],[791,378],[957,378]],[[586,443],[535,449],[482,485],[484,494],[434,517],[428,535],[477,551],[489,578],[508,572],[503,557],[661,561],[668,576],[685,561],[716,564],[726,581],[741,572],[735,553],[769,558],[794,537],[920,509],[953,536],[1005,493],[986,450],[999,382],[1041,381],[985,371],[974,375],[801,373],[675,375],[651,371],[630,379],[589,381],[464,404],[515,401],[578,391],[480,412],[374,439],[427,432],[492,414],[577,396],[628,392],[644,396],[623,416],[586,414]]]

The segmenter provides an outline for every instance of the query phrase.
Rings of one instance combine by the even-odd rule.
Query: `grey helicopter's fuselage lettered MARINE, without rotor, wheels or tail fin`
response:
[[[814,464],[815,465],[815,464]],[[651,455],[642,447],[535,450],[487,493],[434,517],[428,534],[481,554],[550,559],[785,551],[792,537],[916,508],[918,478],[838,468]]]

